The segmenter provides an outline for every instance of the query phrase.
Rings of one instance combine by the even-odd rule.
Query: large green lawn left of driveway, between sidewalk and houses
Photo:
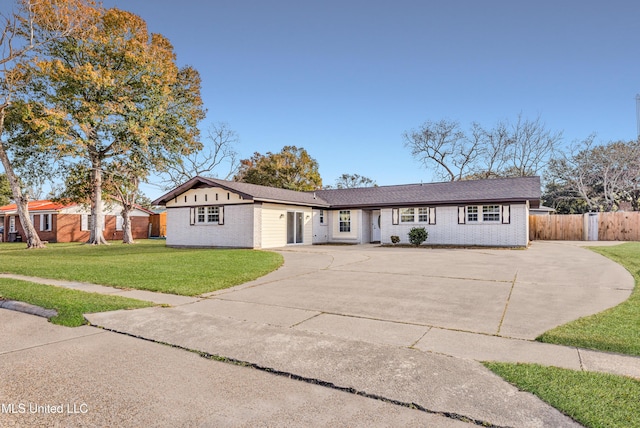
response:
[[[263,276],[282,265],[277,253],[175,249],[162,240],[135,245],[0,244],[0,272],[196,296]]]

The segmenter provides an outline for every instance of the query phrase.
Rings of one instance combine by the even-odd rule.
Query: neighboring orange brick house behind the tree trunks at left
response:
[[[104,237],[107,240],[122,239],[122,210],[117,205],[105,209]],[[49,200],[29,202],[29,215],[38,236],[48,242],[84,242],[89,240],[91,215],[89,207],[80,204],[60,204]],[[150,216],[153,213],[142,207],[131,213],[133,239],[149,237]],[[0,226],[4,226],[0,238],[3,242],[22,240],[24,229],[16,205],[0,207]]]

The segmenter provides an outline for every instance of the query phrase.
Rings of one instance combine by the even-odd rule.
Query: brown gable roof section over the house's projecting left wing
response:
[[[298,192],[295,190],[278,189],[276,187],[259,186],[257,184],[218,180],[217,178],[204,178],[199,176],[192,178],[169,193],[159,197],[153,201],[153,205],[165,205],[171,199],[178,197],[188,190],[203,187],[220,187],[230,192],[238,193],[244,199],[259,202],[329,207],[329,204],[325,200],[317,197],[313,192]]]

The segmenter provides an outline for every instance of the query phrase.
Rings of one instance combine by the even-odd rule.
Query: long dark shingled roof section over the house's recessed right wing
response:
[[[317,193],[332,208],[456,205],[529,201],[540,204],[540,177],[496,178],[445,183],[329,189]]]

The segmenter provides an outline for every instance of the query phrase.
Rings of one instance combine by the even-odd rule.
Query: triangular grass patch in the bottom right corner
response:
[[[537,364],[484,363],[590,428],[640,427],[640,381],[605,373],[544,367]]]

